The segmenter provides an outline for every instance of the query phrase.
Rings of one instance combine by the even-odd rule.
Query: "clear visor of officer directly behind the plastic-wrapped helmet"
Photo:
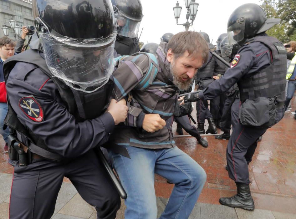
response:
[[[114,15],[118,25],[117,34],[131,38],[138,36],[141,20],[129,18],[120,12]]]

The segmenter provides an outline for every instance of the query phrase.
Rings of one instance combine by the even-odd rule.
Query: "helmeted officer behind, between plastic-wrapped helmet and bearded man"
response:
[[[115,6],[114,15],[117,19],[117,36],[115,51],[119,55],[131,55],[140,51],[138,31],[143,18],[140,0],[111,0]]]

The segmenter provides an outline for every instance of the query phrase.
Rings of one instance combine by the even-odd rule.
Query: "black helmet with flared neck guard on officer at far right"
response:
[[[247,39],[263,33],[281,21],[268,18],[263,9],[254,3],[243,4],[232,12],[228,19],[227,32],[230,43],[243,45]]]

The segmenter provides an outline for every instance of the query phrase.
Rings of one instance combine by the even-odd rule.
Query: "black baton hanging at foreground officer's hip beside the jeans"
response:
[[[115,173],[113,172],[113,170],[111,169],[111,167],[109,166],[108,164],[108,161],[106,160],[105,158],[105,155],[103,154],[103,152],[101,151],[100,147],[98,147],[96,150],[95,150],[97,156],[99,157],[99,159],[102,161],[108,175],[110,176],[111,178],[111,181],[113,182],[116,190],[118,191],[120,197],[122,199],[126,199],[127,198],[127,195],[126,195],[126,192],[124,190],[124,188],[122,187],[120,181],[117,179],[117,177],[115,176]]]

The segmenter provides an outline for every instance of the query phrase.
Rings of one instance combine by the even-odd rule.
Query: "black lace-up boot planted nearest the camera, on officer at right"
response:
[[[232,197],[220,198],[222,205],[229,207],[242,208],[245,210],[254,210],[255,205],[251,196],[250,186],[243,183],[237,183],[237,194]]]

